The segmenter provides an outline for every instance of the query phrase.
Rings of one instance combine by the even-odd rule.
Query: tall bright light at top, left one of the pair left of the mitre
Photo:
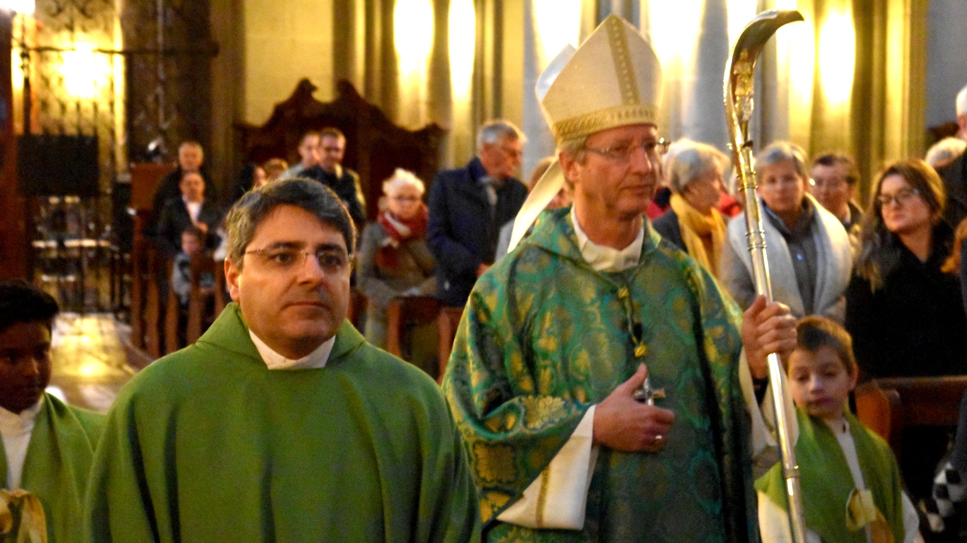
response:
[[[429,0],[396,0],[393,42],[402,74],[419,74],[433,47],[433,6]]]

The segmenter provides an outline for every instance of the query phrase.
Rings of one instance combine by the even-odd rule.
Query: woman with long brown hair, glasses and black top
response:
[[[953,233],[940,177],[923,160],[900,160],[874,194],[846,291],[857,362],[873,377],[967,373],[959,279],[941,270]]]

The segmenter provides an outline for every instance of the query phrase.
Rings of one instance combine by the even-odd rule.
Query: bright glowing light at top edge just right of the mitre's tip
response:
[[[703,3],[703,0],[649,2],[649,32],[662,68],[690,62],[699,37],[693,29],[701,27]]]

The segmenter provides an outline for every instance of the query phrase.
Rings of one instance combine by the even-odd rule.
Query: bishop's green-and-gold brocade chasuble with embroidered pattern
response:
[[[569,211],[542,214],[477,282],[444,381],[488,540],[757,541],[740,318],[711,275],[650,227],[636,267],[595,272]],[[635,334],[646,346],[637,353]],[[639,362],[666,391],[658,405],[676,414],[666,446],[601,448],[583,530],[496,521]]]

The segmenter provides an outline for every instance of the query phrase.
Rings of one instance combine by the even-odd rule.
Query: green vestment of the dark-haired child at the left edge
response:
[[[46,392],[41,397],[41,409],[27,444],[20,487],[41,500],[50,543],[85,541],[84,492],[103,424],[103,414],[67,406]],[[7,469],[7,454],[0,451],[0,482],[5,488]],[[15,516],[18,523],[19,515],[15,513]],[[10,540],[17,526],[8,534]]]

